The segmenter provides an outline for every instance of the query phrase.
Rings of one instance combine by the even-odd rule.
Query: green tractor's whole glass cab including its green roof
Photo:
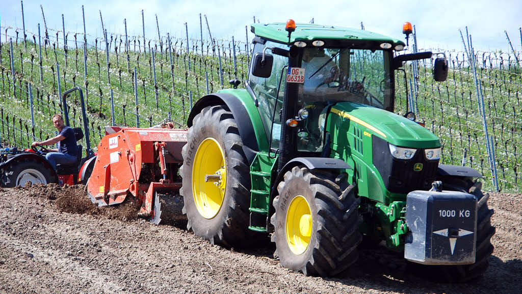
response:
[[[395,70],[405,60],[432,56],[395,57],[405,48],[397,39],[340,27],[296,27],[293,20],[254,24],[252,32],[246,88],[258,105],[270,146],[280,154],[278,170],[295,157],[329,157],[325,128],[333,106],[351,103],[393,112]]]

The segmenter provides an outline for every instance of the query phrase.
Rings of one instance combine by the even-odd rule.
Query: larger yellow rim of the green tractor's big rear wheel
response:
[[[219,180],[205,181],[205,176]],[[218,141],[207,138],[199,145],[192,167],[192,192],[199,214],[207,219],[215,217],[223,204],[227,186],[225,156]]]

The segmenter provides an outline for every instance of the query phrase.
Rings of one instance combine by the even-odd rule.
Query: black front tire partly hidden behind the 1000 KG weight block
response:
[[[445,283],[464,283],[480,277],[489,266],[488,258],[493,253],[491,237],[495,227],[491,226],[493,210],[488,207],[489,194],[482,193],[482,183],[473,182],[471,178],[453,178],[443,181],[445,190],[453,190],[475,195],[477,204],[477,246],[475,263],[469,265],[421,265],[408,263],[413,273],[428,279]]]

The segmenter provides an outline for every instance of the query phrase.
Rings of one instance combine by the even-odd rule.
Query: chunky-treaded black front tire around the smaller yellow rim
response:
[[[305,167],[294,167],[284,174],[273,203],[276,212],[271,217],[275,228],[271,237],[276,243],[274,255],[279,256],[283,267],[305,275],[326,277],[344,272],[357,261],[357,246],[362,240],[359,232],[362,218],[358,214],[361,201],[355,198],[355,186],[341,183],[343,181],[336,183],[335,175]],[[300,197],[308,203],[312,224],[307,233],[309,242],[302,247],[295,245],[298,242],[289,243],[295,235],[302,234],[301,222],[297,233],[298,230],[292,228],[295,222],[291,219],[287,222],[288,216],[294,215],[291,206],[295,204],[291,203],[302,201]],[[287,231],[292,229],[294,233],[288,238]],[[300,248],[304,252],[295,252]]]

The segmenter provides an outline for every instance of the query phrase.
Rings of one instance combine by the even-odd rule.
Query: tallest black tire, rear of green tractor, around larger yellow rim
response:
[[[219,212],[211,218],[204,217],[196,205],[194,197],[193,169],[197,151],[201,143],[212,138],[219,143],[226,163],[226,187]],[[183,213],[187,216],[187,229],[194,231],[212,244],[224,247],[243,247],[251,243],[254,231],[248,230],[250,224],[250,168],[243,152],[243,141],[233,114],[226,106],[205,107],[193,119],[187,132],[187,144],[183,147],[183,165],[180,175],[183,186]],[[197,163],[196,163],[197,164]],[[200,181],[200,180],[199,180]],[[196,185],[194,183],[194,185]]]

